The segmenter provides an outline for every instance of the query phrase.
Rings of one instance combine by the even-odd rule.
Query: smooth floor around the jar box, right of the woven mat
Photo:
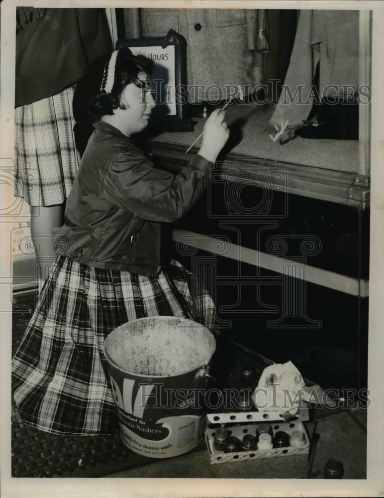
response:
[[[323,479],[330,458],[341,461],[343,479],[366,479],[366,411],[337,413],[318,421],[320,435],[315,452],[311,479]],[[359,423],[355,421],[358,417]],[[313,422],[305,424],[309,434]],[[207,451],[155,462],[145,467],[110,474],[111,478],[231,478],[231,479],[307,479],[308,455],[291,455],[245,462],[210,465]]]

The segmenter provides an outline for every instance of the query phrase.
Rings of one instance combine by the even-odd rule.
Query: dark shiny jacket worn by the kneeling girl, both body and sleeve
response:
[[[213,164],[196,154],[176,176],[156,169],[131,140],[99,121],[67,199],[56,251],[98,268],[155,276],[160,225],[181,218]]]

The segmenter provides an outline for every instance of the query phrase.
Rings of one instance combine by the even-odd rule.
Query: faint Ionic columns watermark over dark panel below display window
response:
[[[322,244],[318,237],[311,235],[269,235],[271,230],[278,228],[279,222],[266,223],[264,220],[239,223],[241,228],[254,229],[254,239],[257,247],[265,244],[266,252],[242,247],[242,230],[235,223],[220,223],[220,228],[231,230],[237,235],[237,244],[232,237],[216,235],[206,236],[190,233],[180,235],[176,240],[176,249],[182,256],[190,257],[190,267],[193,274],[192,295],[201,295],[198,289],[203,286],[208,290],[216,303],[216,314],[275,314],[276,319],[268,320],[268,328],[321,328],[322,322],[308,316],[308,291],[306,266],[309,256],[318,254]],[[266,236],[265,236],[266,234]],[[262,237],[264,236],[264,237]],[[263,241],[265,239],[266,241]],[[291,247],[299,254],[292,252]],[[231,272],[224,273],[219,268],[220,257],[232,260]],[[243,274],[242,262],[252,264],[254,272]],[[267,273],[262,268],[267,267]],[[269,270],[273,270],[272,273]],[[192,285],[192,287],[193,287]],[[265,302],[263,293],[271,286],[274,302]],[[229,298],[232,302],[224,304]],[[270,289],[271,290],[271,289]],[[270,293],[270,292],[268,292]],[[217,296],[221,298],[218,299]],[[228,296],[228,297],[227,297]],[[271,301],[271,298],[269,298]],[[220,304],[218,304],[220,302]],[[219,327],[230,327],[231,321],[218,320]]]

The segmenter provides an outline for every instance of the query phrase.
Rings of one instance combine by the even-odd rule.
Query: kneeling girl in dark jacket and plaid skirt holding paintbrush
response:
[[[22,420],[57,434],[118,430],[102,352],[119,325],[146,316],[196,319],[212,327],[214,304],[192,296],[192,275],[160,260],[160,225],[182,217],[206,187],[229,131],[208,118],[201,148],[177,176],[156,169],[131,141],[155,105],[153,63],[127,48],[105,64],[91,104],[98,118],[54,231],[57,256],[12,360],[12,393]],[[196,309],[197,307],[197,309]]]

